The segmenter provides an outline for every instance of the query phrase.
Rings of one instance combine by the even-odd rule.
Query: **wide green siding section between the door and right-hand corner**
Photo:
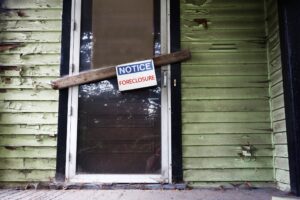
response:
[[[181,0],[181,44],[184,180],[274,182],[264,1]]]

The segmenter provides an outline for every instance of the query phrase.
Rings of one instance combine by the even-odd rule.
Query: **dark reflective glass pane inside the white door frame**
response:
[[[80,70],[160,53],[157,0],[83,0]],[[161,173],[158,86],[119,92],[116,79],[79,87],[78,174]]]

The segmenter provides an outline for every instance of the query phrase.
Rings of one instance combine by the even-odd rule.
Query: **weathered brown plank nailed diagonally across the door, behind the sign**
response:
[[[189,50],[178,51],[171,54],[157,56],[153,58],[154,65],[160,67],[167,64],[177,63],[190,59],[191,54]],[[77,75],[62,77],[52,82],[53,89],[63,89],[75,85],[89,83],[92,81],[99,81],[116,76],[115,66],[100,68],[81,72]]]

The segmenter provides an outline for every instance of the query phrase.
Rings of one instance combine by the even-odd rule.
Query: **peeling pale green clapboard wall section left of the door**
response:
[[[62,0],[0,1],[0,184],[51,181],[56,168]]]

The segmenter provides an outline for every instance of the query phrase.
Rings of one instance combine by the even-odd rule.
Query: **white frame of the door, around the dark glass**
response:
[[[80,24],[81,1],[73,0],[70,71],[69,74],[79,73],[80,63]],[[161,0],[161,52],[170,52],[170,0]],[[73,30],[73,31],[72,31]],[[66,181],[67,182],[97,182],[97,183],[171,183],[171,87],[170,66],[162,67],[162,96],[161,96],[161,174],[76,174],[77,152],[77,123],[78,123],[78,86],[69,88],[68,126],[66,152]]]

